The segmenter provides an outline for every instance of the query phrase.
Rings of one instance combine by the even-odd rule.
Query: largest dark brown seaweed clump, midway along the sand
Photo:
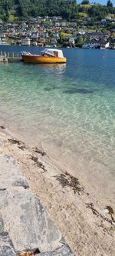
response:
[[[84,188],[81,186],[79,180],[67,172],[65,174],[56,175],[56,179],[60,182],[62,188],[70,187],[74,191],[74,194],[81,194],[84,191]]]

